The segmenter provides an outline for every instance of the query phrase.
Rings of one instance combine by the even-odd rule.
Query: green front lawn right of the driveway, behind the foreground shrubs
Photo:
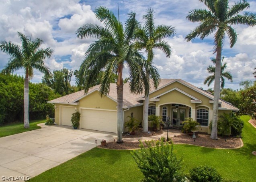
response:
[[[183,155],[185,172],[199,165],[217,169],[224,178],[253,182],[256,179],[256,129],[244,120],[243,142],[240,149],[210,149],[191,145],[174,145],[178,157]],[[56,156],[57,157],[57,156]],[[143,178],[130,151],[104,150],[93,148],[55,168],[32,178],[33,182],[44,181],[139,181]]]

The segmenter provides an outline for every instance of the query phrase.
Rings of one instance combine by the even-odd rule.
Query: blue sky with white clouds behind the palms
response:
[[[230,0],[230,4],[234,4]],[[256,1],[248,0],[250,8],[247,12],[256,13]],[[199,0],[0,0],[0,40],[20,44],[17,32],[22,32],[32,39],[41,38],[41,47],[51,47],[54,53],[50,59],[45,59],[51,71],[68,68],[79,69],[92,38],[78,39],[76,30],[86,23],[102,25],[94,15],[97,6],[105,6],[112,10],[120,21],[125,22],[129,12],[136,13],[136,19],[143,23],[143,14],[148,8],[154,9],[155,25],[176,27],[176,34],[165,40],[172,47],[172,55],[167,58],[160,50],[154,50],[154,65],[162,78],[183,79],[197,87],[208,89],[203,85],[209,75],[207,67],[212,65],[213,34],[204,40],[196,38],[186,42],[184,37],[198,24],[186,20],[188,12],[197,8],[205,8]],[[243,13],[242,13],[243,14]],[[222,56],[227,62],[226,71],[233,76],[233,83],[226,80],[225,87],[239,89],[239,83],[245,80],[255,81],[256,67],[256,26],[233,26],[238,34],[238,40],[233,48],[225,39]],[[9,56],[0,52],[0,70],[8,62]],[[16,71],[23,75],[24,70]],[[127,69],[123,79],[129,77]],[[42,74],[35,71],[31,80],[41,82]],[[75,77],[72,77],[72,85]],[[210,85],[213,88],[213,84]]]

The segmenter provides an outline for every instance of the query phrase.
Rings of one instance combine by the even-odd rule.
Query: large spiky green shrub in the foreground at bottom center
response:
[[[146,149],[140,142],[140,150],[131,152],[145,182],[184,181],[182,159],[173,153],[173,145],[163,141],[145,141]]]

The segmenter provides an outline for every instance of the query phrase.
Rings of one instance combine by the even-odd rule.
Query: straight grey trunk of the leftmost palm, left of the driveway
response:
[[[24,79],[24,128],[29,128],[29,76],[27,69]]]

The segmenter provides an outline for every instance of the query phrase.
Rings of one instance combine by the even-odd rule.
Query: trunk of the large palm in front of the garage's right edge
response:
[[[123,64],[118,65],[117,79],[117,143],[122,144],[123,131]]]

